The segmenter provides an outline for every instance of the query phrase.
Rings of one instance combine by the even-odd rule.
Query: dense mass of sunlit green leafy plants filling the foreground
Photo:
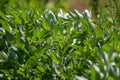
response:
[[[93,19],[88,10],[41,13],[7,1],[0,3],[1,80],[120,80],[119,9]]]

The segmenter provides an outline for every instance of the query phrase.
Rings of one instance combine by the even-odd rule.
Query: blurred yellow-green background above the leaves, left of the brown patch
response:
[[[20,9],[33,8],[41,12],[46,8],[51,9],[52,11],[58,11],[60,8],[63,10],[69,8],[69,0],[6,0],[5,4],[6,3],[12,7]]]

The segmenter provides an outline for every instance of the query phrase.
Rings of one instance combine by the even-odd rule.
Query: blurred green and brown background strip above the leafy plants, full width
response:
[[[115,0],[115,2],[119,3],[120,1]],[[14,9],[32,8],[41,13],[43,13],[45,9],[51,9],[53,12],[59,12],[60,9],[65,12],[68,10],[74,11],[74,9],[83,12],[85,9],[88,9],[91,10],[93,16],[96,17],[99,12],[103,12],[106,8],[105,6],[108,4],[109,7],[113,8],[116,3],[114,3],[113,0],[0,0],[0,11],[6,12],[6,10],[10,10],[11,7]],[[118,10],[119,8],[113,9],[116,11],[112,10],[112,15],[117,14],[118,17],[120,12],[120,10]]]

